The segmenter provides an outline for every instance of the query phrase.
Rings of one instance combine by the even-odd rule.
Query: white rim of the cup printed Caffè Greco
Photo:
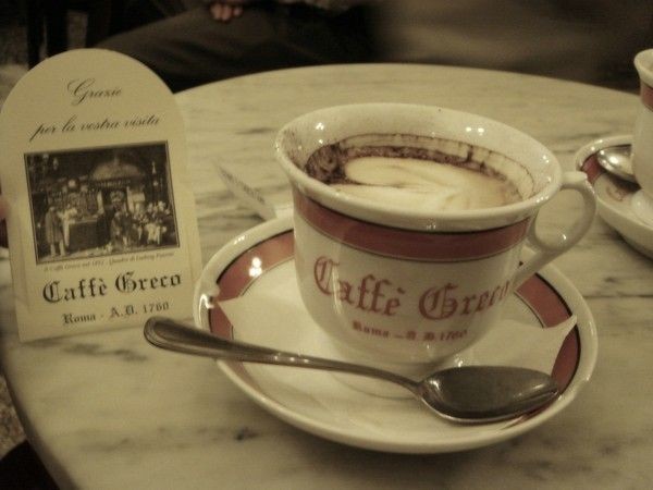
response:
[[[477,121],[489,122],[496,127],[502,127],[514,134],[519,134],[523,140],[528,142],[530,145],[537,146],[541,151],[542,158],[546,159],[546,162],[552,164],[552,170],[547,175],[547,182],[532,196],[519,200],[518,203],[500,207],[447,211],[431,211],[424,209],[406,210],[405,208],[392,206],[392,204],[371,201],[358,196],[338,192],[330,185],[309,176],[305,171],[299,169],[288,156],[285,147],[285,145],[288,143],[286,137],[288,133],[298,125],[299,122],[315,118],[321,113],[326,113],[326,111],[340,109],[365,110],[372,107],[384,108],[387,110],[414,110],[418,108],[423,110],[424,108],[428,108],[438,112],[469,115],[475,118]],[[549,201],[562,186],[563,172],[560,164],[555,155],[553,155],[553,152],[549,150],[542,143],[538,142],[522,131],[496,120],[473,114],[471,112],[442,108],[438,106],[375,102],[332,106],[318,109],[299,115],[286,123],[276,135],[274,148],[276,159],[286,175],[289,177],[292,185],[297,187],[298,191],[305,194],[307,197],[321,204],[322,206],[325,206],[326,208],[342,212],[343,215],[378,224],[386,224],[389,226],[409,230],[466,231],[508,225],[531,216],[535,209],[539,209],[542,205]]]

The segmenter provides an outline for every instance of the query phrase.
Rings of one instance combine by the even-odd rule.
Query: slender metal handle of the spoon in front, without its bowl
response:
[[[393,372],[226,340],[165,317],[151,317],[148,319],[145,323],[144,334],[147,341],[157,347],[184,354],[226,360],[349,372],[352,375],[384,379],[401,384],[411,392],[415,392],[417,389],[415,381]]]

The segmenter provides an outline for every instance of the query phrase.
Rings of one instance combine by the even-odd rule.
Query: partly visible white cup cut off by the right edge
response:
[[[632,199],[636,215],[653,226],[653,49],[634,57],[640,77],[640,110],[632,135],[632,171],[641,191]]]

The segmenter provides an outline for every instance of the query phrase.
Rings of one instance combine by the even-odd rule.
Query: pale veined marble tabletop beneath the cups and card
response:
[[[282,182],[274,134],[308,110],[399,101],[477,112],[530,133],[571,169],[589,140],[630,132],[638,108],[633,95],[587,85],[419,65],[272,72],[176,97],[205,262],[260,221],[230,196],[215,166],[256,168],[260,187],[273,189]],[[545,222],[577,206],[562,196]],[[555,265],[594,314],[594,377],[552,420],[480,450],[410,456],[321,440],[259,408],[212,362],[150,347],[139,329],[21,344],[5,261],[0,363],[29,440],[63,488],[651,488],[653,261],[596,219]]]

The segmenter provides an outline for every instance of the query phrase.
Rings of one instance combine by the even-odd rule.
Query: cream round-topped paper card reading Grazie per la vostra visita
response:
[[[0,155],[21,340],[192,316],[184,125],[149,69],[98,49],[44,61],[2,107]]]

